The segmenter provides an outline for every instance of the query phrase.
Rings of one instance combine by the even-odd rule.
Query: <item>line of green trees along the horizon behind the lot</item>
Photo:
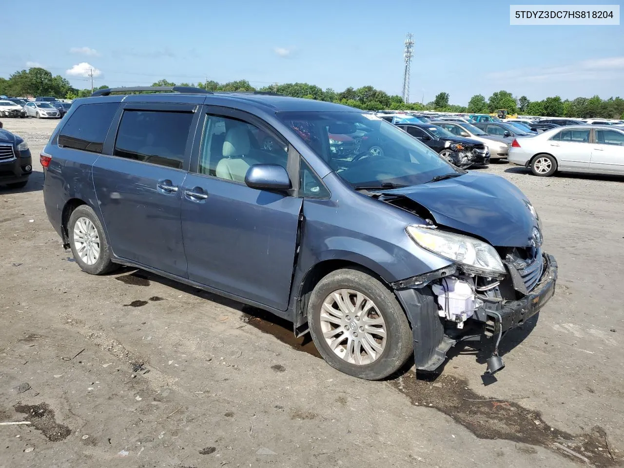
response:
[[[174,86],[176,83],[162,79],[152,85]],[[402,101],[401,96],[389,95],[382,90],[375,89],[373,86],[348,87],[338,92],[331,88],[321,89],[321,87],[308,83],[273,84],[256,89],[247,80],[230,81],[227,83],[207,80],[197,84],[183,82],[178,83],[178,85],[196,86],[209,91],[275,92],[305,99],[337,102],[364,110],[437,110],[438,112],[489,114],[499,109],[507,109],[509,114],[624,119],[624,99],[610,97],[604,100],[598,95],[589,98],[577,97],[573,100],[562,100],[559,96],[554,96],[547,97],[544,100],[531,101],[526,96],[517,98],[509,91],[500,90],[494,92],[487,100],[484,95],[475,94],[470,98],[468,106],[464,107],[462,105],[449,104],[450,95],[447,92],[440,92],[434,100],[427,104],[419,102],[406,104]],[[106,85],[102,85],[97,89],[106,87]],[[24,97],[46,95],[76,99],[77,97],[89,96],[91,89],[76,89],[69,84],[67,79],[60,75],[52,76],[51,72],[46,69],[32,67],[28,70],[16,71],[8,79],[0,77],[0,94]]]

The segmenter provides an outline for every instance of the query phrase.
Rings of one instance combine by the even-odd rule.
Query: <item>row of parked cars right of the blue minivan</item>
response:
[[[557,171],[624,173],[624,122],[620,120],[500,120],[490,115],[431,120],[431,115],[377,115],[461,168],[507,158],[539,176]]]

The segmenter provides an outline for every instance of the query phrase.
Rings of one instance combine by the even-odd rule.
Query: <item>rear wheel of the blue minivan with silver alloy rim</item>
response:
[[[88,205],[80,205],[72,212],[67,225],[69,245],[76,263],[90,275],[104,275],[117,265],[110,260],[109,243],[104,228]]]

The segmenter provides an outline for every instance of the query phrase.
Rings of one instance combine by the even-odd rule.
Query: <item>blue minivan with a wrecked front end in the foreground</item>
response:
[[[137,90],[77,99],[41,154],[47,215],[87,273],[130,265],[268,310],[363,379],[477,339],[493,373],[553,295],[537,212],[504,178],[344,105]]]

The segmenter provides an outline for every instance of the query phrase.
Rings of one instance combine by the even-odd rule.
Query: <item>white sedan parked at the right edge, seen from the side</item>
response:
[[[540,176],[558,170],[624,175],[624,130],[599,125],[557,127],[515,139],[507,160]]]

